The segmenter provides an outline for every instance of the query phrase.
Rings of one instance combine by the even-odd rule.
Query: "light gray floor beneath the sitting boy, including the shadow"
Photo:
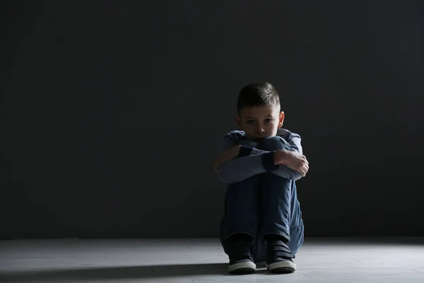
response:
[[[307,238],[290,275],[227,275],[217,239],[0,241],[0,282],[424,283],[424,241]]]

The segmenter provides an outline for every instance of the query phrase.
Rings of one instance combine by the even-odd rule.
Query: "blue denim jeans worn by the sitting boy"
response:
[[[290,144],[278,136],[260,143],[245,140],[242,144],[266,151],[290,149]],[[252,236],[254,262],[266,259],[266,234],[283,236],[292,253],[297,253],[303,243],[304,226],[295,181],[273,173],[261,173],[230,184],[220,223],[220,242],[227,254],[228,238],[235,233]]]

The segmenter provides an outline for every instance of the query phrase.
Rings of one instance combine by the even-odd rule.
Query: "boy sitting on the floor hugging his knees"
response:
[[[220,224],[228,272],[252,273],[264,261],[271,272],[294,272],[304,231],[295,180],[309,170],[300,136],[281,129],[284,112],[271,83],[242,88],[237,114],[240,131],[225,134],[213,165],[228,183]]]

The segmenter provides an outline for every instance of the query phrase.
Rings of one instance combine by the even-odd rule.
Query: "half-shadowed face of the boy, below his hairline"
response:
[[[243,108],[235,118],[247,139],[275,137],[277,129],[283,126],[284,112],[280,106],[252,106]]]

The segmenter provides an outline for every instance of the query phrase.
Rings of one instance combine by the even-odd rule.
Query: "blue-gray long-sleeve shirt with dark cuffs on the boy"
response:
[[[290,151],[296,151],[302,154],[301,138],[299,134],[288,131],[288,129],[278,129],[277,136],[282,137],[290,144]],[[245,139],[244,131],[231,131],[225,134],[223,138],[222,150],[230,149],[233,146],[241,144]],[[273,151],[264,151],[256,148],[246,149],[242,146],[237,158],[226,161],[218,167],[218,176],[224,183],[237,183],[253,175],[271,172],[290,180],[299,180],[302,175],[287,166],[273,161]]]

